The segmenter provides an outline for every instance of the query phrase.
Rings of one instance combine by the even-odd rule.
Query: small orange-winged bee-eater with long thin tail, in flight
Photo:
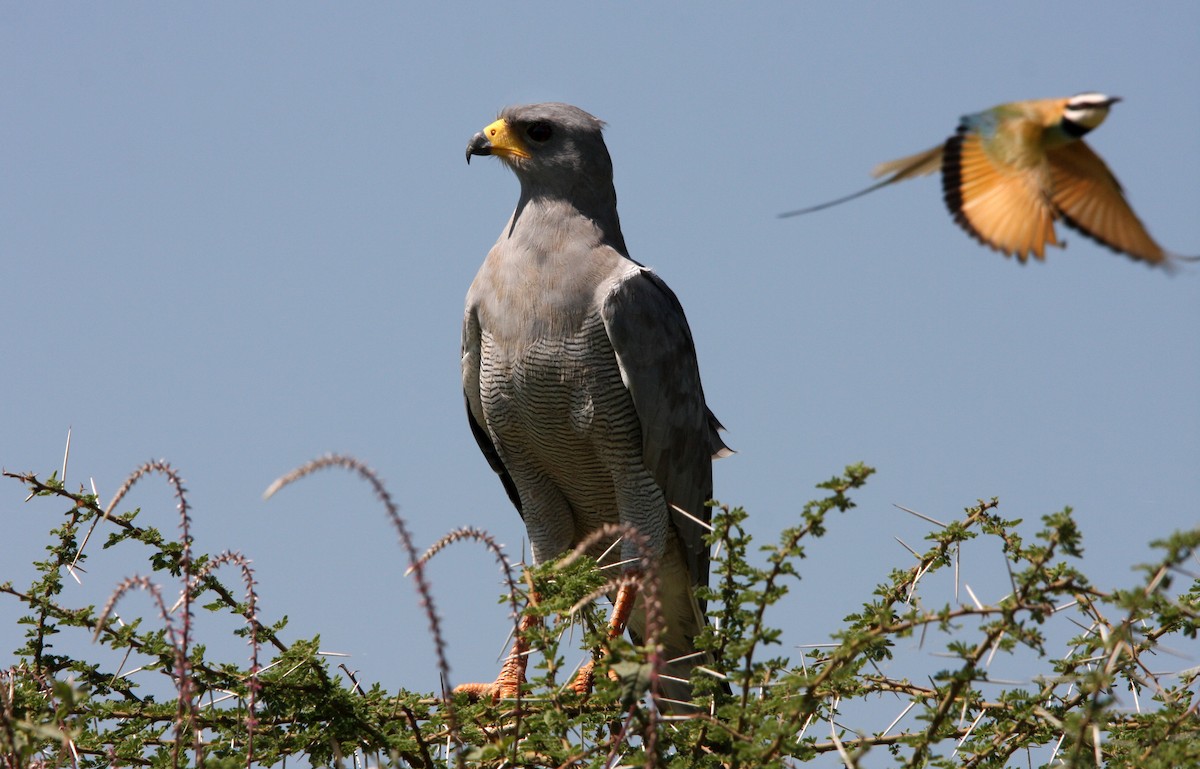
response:
[[[944,144],[876,166],[871,175],[882,181],[780,216],[820,211],[941,169],[954,221],[979,242],[1022,263],[1030,254],[1044,259],[1046,245],[1064,246],[1055,234],[1056,220],[1147,264],[1200,258],[1164,251],[1129,208],[1116,176],[1082,140],[1118,101],[1085,92],[965,115]]]

